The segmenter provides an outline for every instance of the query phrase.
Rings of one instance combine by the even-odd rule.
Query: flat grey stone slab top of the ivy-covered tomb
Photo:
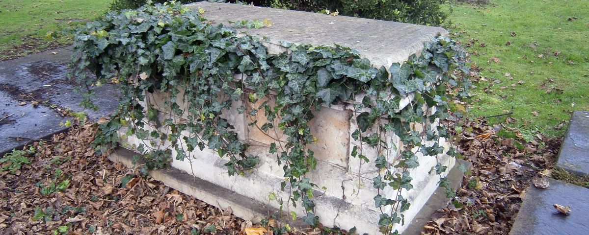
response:
[[[348,46],[358,50],[373,66],[382,65],[385,68],[394,62],[406,61],[410,55],[420,52],[423,42],[439,35],[448,35],[448,31],[439,27],[251,5],[197,2],[186,6],[203,8],[204,18],[227,26],[231,26],[228,21],[268,19],[272,26],[237,30],[259,38],[266,36],[277,45],[280,42],[291,42]]]

